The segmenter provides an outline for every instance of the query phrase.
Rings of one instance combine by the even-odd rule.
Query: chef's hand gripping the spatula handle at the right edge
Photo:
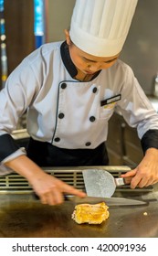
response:
[[[132,177],[131,188],[147,187],[158,182],[158,149],[149,148],[141,163],[121,177]]]

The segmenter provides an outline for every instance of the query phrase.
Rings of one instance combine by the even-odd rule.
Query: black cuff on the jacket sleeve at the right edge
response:
[[[145,154],[146,150],[150,147],[158,149],[158,130],[149,130],[143,134],[142,140],[142,150]]]

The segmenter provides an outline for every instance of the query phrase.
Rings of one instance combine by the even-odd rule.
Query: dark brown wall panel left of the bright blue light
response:
[[[35,49],[34,1],[5,0],[5,34],[8,74]]]

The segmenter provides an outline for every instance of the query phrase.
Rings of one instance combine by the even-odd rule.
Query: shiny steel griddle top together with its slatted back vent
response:
[[[91,166],[91,168],[105,169],[115,177],[130,170],[126,166]],[[74,187],[84,189],[82,169],[85,167],[45,170]],[[153,187],[143,190],[142,188],[132,190],[127,186],[118,187],[114,197],[147,199],[149,205],[110,207],[110,218],[101,225],[78,225],[71,219],[75,202],[64,201],[57,206],[41,204],[31,193],[32,188],[24,177],[17,174],[1,176],[0,238],[157,238],[158,204],[154,193],[148,193],[152,189]]]

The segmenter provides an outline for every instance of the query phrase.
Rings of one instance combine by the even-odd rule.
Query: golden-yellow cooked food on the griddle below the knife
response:
[[[108,208],[109,207],[104,202],[95,205],[80,204],[75,207],[72,213],[72,219],[78,224],[100,224],[102,221],[109,218],[110,213]]]

